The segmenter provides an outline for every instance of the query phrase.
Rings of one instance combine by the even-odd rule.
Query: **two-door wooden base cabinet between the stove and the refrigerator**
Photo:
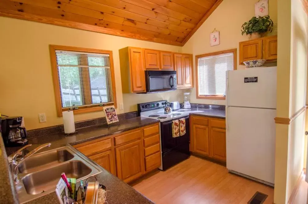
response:
[[[214,160],[226,161],[225,120],[190,116],[191,151]]]

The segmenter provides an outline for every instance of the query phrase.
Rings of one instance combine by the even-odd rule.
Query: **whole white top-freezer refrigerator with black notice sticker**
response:
[[[227,71],[229,172],[274,186],[277,67]]]

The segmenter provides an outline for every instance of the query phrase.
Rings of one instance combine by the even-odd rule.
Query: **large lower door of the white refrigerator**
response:
[[[276,110],[226,108],[227,168],[274,184]]]

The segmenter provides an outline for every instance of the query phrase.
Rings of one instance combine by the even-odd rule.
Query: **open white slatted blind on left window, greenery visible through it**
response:
[[[113,102],[109,54],[56,50],[62,108]]]

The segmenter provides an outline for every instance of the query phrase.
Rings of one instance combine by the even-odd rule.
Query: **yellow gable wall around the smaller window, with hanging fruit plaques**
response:
[[[254,4],[256,2],[257,0],[224,0],[191,39],[182,47],[182,52],[193,53],[194,59],[195,55],[233,48],[237,48],[238,52],[239,42],[248,40],[247,35],[241,35],[241,26],[254,16]],[[274,30],[270,35],[276,35],[277,0],[269,0],[269,13],[274,22]],[[220,31],[220,45],[210,47],[209,35],[214,28]],[[239,55],[237,55],[237,69],[243,69],[245,66],[238,65],[238,56]],[[193,62],[195,67],[195,60],[193,60]],[[276,63],[271,63],[268,66],[276,66]],[[196,76],[195,69],[194,76]],[[191,92],[190,101],[193,103],[212,104],[214,101],[197,99],[196,88],[192,88],[189,91]],[[218,104],[225,105],[225,100],[216,101]]]

